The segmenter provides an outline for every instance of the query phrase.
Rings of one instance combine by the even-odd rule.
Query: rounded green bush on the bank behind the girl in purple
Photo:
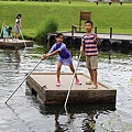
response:
[[[54,19],[47,19],[46,21],[43,21],[40,24],[35,40],[38,42],[46,43],[47,34],[55,33],[57,29],[58,29],[58,23]]]

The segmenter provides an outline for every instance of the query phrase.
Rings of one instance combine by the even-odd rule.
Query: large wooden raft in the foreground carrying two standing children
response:
[[[116,103],[117,90],[98,82],[97,89],[88,89],[86,81],[89,77],[78,73],[81,85],[73,84],[72,91],[67,103],[78,102],[111,102]],[[33,95],[44,103],[64,103],[73,79],[73,74],[61,74],[61,87],[56,86],[56,73],[32,73],[26,78],[26,85]]]

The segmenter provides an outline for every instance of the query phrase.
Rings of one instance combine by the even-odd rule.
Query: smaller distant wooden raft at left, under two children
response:
[[[3,41],[3,38],[0,38],[0,48],[23,48],[23,47],[33,47],[33,41],[26,41],[26,40],[18,40],[12,41],[9,40],[9,42]]]

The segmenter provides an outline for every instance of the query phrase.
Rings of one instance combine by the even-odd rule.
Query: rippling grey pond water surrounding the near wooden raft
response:
[[[38,63],[42,47],[26,51],[0,50],[0,132],[132,132],[132,55],[99,57],[98,79],[117,89],[116,106],[108,103],[44,106],[33,98],[25,82],[25,74]],[[107,55],[105,55],[107,56]],[[74,56],[74,65],[77,56]],[[56,72],[56,57],[42,62],[35,72]],[[70,72],[63,67],[62,72]],[[87,73],[85,62],[78,72]]]

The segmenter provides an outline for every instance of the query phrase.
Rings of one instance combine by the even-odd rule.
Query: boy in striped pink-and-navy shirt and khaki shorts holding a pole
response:
[[[97,68],[98,68],[98,47],[100,40],[97,34],[92,33],[92,22],[85,22],[86,34],[81,37],[80,53],[86,52],[86,67],[89,70],[90,79],[86,82],[88,88],[98,88]]]

